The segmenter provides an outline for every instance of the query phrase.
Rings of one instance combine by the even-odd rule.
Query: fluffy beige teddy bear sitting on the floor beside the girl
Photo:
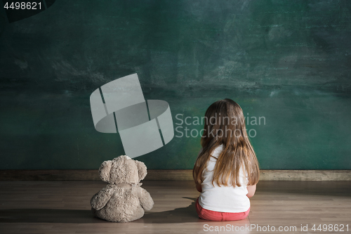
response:
[[[126,223],[140,219],[144,210],[150,210],[154,201],[140,183],[147,174],[143,162],[121,155],[102,162],[99,168],[107,186],[91,198],[94,216],[111,222]]]

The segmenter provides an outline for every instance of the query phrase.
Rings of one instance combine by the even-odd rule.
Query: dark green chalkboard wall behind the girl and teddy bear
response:
[[[351,169],[351,1],[57,0],[11,23],[0,12],[0,169],[123,155],[119,134],[95,131],[89,96],[133,73],[179,127],[136,158],[149,169],[192,169],[196,117],[222,98],[249,117],[261,169]]]

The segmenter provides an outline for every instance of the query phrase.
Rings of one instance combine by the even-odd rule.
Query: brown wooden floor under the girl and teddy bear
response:
[[[197,217],[199,193],[192,181],[144,181],[155,202],[150,212],[131,223],[102,221],[93,218],[89,202],[104,186],[98,181],[1,181],[0,233],[351,233],[351,181],[260,181],[249,217],[232,222]],[[307,231],[301,224],[308,225]],[[314,232],[314,224],[345,227]]]

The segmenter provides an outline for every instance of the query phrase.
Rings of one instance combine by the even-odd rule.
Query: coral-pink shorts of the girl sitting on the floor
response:
[[[200,219],[212,221],[235,221],[245,219],[250,212],[250,208],[246,212],[230,213],[230,212],[213,212],[212,210],[204,209],[199,204],[199,197],[196,202],[197,214]]]

